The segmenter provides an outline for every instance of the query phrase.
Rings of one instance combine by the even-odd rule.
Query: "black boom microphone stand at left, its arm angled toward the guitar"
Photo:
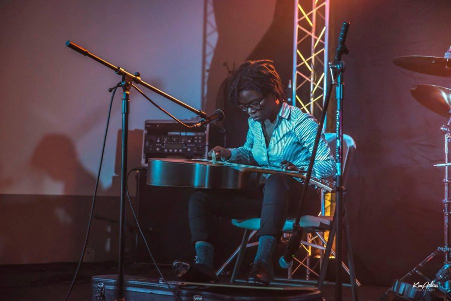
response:
[[[163,91],[151,86],[150,84],[141,80],[141,74],[136,72],[131,74],[121,67],[115,66],[102,58],[90,53],[88,50],[78,46],[77,44],[67,41],[66,46],[87,56],[94,61],[114,70],[114,72],[122,76],[121,87],[123,90],[122,95],[122,141],[121,141],[121,200],[120,200],[120,219],[119,219],[119,258],[118,258],[118,299],[117,301],[125,301],[124,297],[124,253],[125,253],[125,200],[126,200],[126,175],[127,175],[127,143],[128,143],[128,116],[130,111],[130,88],[132,83],[140,84],[147,89],[163,96],[164,98],[194,112],[197,116],[201,117],[203,120],[208,120],[205,112],[197,110],[175,97],[164,93]],[[207,122],[204,122],[207,123]]]

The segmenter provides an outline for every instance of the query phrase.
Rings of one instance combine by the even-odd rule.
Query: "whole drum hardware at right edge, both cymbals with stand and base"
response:
[[[419,72],[428,75],[435,75],[441,77],[451,77],[451,47],[445,53],[445,58],[437,57],[421,57],[421,56],[407,56],[400,57],[393,60],[393,63],[401,68]],[[390,292],[398,297],[408,300],[423,300],[432,299],[435,293],[434,290],[444,294],[444,300],[451,298],[451,248],[449,247],[449,219],[451,214],[449,211],[449,184],[451,179],[448,177],[448,167],[451,163],[448,162],[449,142],[451,142],[451,89],[439,87],[435,85],[416,85],[410,93],[414,99],[421,105],[432,112],[435,112],[443,117],[448,118],[448,122],[440,127],[440,132],[444,135],[444,163],[434,164],[435,167],[444,167],[444,178],[442,179],[444,186],[443,203],[443,246],[437,247],[429,256],[416,265],[412,270],[405,274],[402,278],[396,279],[391,288],[389,288],[379,300],[387,300]],[[419,268],[424,266],[437,254],[443,253],[443,265],[435,273],[431,280],[424,275]],[[405,282],[407,277],[412,275],[419,275],[425,279],[427,286],[418,287]],[[440,298],[441,299],[441,298]]]

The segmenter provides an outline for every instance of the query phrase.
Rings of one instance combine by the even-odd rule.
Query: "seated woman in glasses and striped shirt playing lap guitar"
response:
[[[236,149],[216,146],[211,155],[214,152],[223,161],[307,170],[318,124],[313,116],[285,102],[280,76],[272,61],[241,64],[229,81],[229,101],[249,114],[246,143]],[[326,178],[334,174],[335,160],[322,134],[312,175]],[[272,253],[285,219],[296,214],[303,184],[287,174],[264,175],[264,180],[264,185],[257,190],[203,190],[191,195],[189,226],[196,262],[209,270],[209,274],[214,274],[212,215],[237,219],[260,217],[259,247],[248,282],[268,285],[274,278]],[[309,190],[303,211],[317,215],[319,208],[318,194]]]

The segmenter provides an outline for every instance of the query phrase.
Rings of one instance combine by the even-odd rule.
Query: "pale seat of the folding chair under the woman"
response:
[[[290,232],[293,230],[293,224],[295,219],[287,219],[283,228],[284,232]],[[304,229],[311,231],[328,231],[330,230],[330,224],[332,223],[332,216],[313,216],[304,215],[301,216],[299,220],[299,225]],[[258,230],[260,228],[260,218],[250,218],[250,219],[232,219],[232,224],[234,226],[249,229]]]

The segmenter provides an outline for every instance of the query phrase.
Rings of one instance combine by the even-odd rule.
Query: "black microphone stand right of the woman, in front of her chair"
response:
[[[332,241],[333,241],[333,233],[332,232],[334,232],[334,229],[335,229],[336,238],[337,238],[337,242],[336,242],[336,280],[335,280],[335,300],[336,301],[342,300],[341,262],[342,262],[342,230],[343,230],[343,213],[344,213],[342,201],[343,201],[343,192],[345,189],[343,187],[343,172],[342,172],[343,171],[343,169],[342,169],[342,157],[343,157],[342,129],[343,129],[344,62],[341,61],[341,56],[343,54],[348,54],[348,52],[349,52],[346,44],[344,44],[344,42],[346,40],[348,27],[349,27],[349,23],[343,22],[340,36],[338,39],[338,47],[335,52],[334,61],[333,61],[333,63],[329,62],[329,69],[330,69],[332,78],[331,78],[331,81],[327,85],[327,91],[326,91],[326,96],[324,99],[323,111],[321,114],[321,119],[320,119],[320,122],[318,125],[318,131],[316,133],[315,142],[313,145],[312,156],[310,157],[309,167],[308,167],[306,178],[304,181],[304,187],[302,190],[301,199],[300,199],[299,206],[298,206],[296,220],[293,224],[293,235],[291,236],[290,240],[288,241],[287,250],[285,251],[285,254],[284,254],[284,259],[285,259],[285,261],[287,261],[286,258],[289,256],[293,256],[293,254],[296,252],[296,250],[300,246],[302,232],[303,232],[303,228],[299,225],[300,218],[302,215],[302,204],[304,203],[305,197],[307,195],[307,189],[308,189],[308,185],[310,183],[310,178],[311,178],[312,171],[313,171],[313,165],[315,163],[315,157],[316,157],[316,152],[318,150],[319,140],[321,137],[321,131],[322,131],[324,120],[325,120],[325,117],[327,114],[327,108],[329,106],[332,85],[335,84],[336,85],[335,97],[337,100],[337,113],[336,113],[336,124],[335,124],[335,126],[336,126],[336,130],[335,130],[335,133],[336,133],[336,151],[335,152],[336,152],[336,154],[335,154],[335,156],[336,156],[336,169],[337,169],[337,173],[335,175],[336,207],[335,207],[334,221],[332,222],[332,225],[331,225],[332,230],[329,235],[330,236],[329,239],[331,240],[331,243],[328,243],[328,246],[329,245],[330,245],[330,247],[332,246]],[[345,226],[347,228],[348,224],[346,223]],[[348,232],[348,231],[346,231],[346,232]],[[348,247],[350,248],[351,247],[350,246],[350,237],[349,237],[349,235],[347,235],[347,236],[348,237],[346,237],[346,240],[347,240],[347,244],[349,244]],[[327,249],[328,248],[326,248],[325,256],[328,257],[329,253],[330,253],[330,249],[329,249],[329,252]],[[351,255],[351,257],[352,257],[352,255]],[[327,269],[327,264],[325,264],[325,266],[323,266],[323,267],[324,268],[322,268],[321,273],[320,273],[320,279],[318,280],[318,284],[319,284],[318,288],[321,288],[322,281],[324,280],[324,276],[325,276],[325,269]],[[353,271],[353,267],[351,268],[351,266],[350,266],[350,270],[351,270],[351,282],[354,283],[354,284],[351,283],[353,300],[356,300],[357,294],[355,292],[355,274]],[[352,278],[354,278],[354,279],[352,279]]]

